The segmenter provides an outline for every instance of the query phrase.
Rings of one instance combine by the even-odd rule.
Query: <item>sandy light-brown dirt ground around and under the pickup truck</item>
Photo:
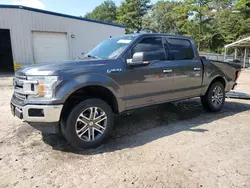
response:
[[[250,187],[250,100],[207,113],[199,99],[116,118],[111,140],[74,151],[13,118],[0,78],[0,187]],[[250,71],[238,91],[250,94]]]

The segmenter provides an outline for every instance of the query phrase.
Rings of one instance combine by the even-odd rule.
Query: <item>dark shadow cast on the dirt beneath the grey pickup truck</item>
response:
[[[167,103],[137,110],[116,117],[112,138],[106,144],[91,150],[74,150],[59,135],[43,135],[45,143],[53,149],[75,154],[94,155],[133,148],[150,143],[182,131],[203,133],[208,130],[196,128],[199,125],[216,121],[250,110],[250,104],[227,101],[219,113],[207,113],[199,99]]]

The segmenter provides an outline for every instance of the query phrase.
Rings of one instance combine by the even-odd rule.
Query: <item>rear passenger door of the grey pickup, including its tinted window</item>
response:
[[[171,53],[171,70],[174,79],[175,99],[199,96],[201,94],[203,67],[196,49],[188,39],[168,38]],[[167,88],[166,88],[167,89]]]

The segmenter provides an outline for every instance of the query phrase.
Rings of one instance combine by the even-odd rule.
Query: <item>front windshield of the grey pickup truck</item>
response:
[[[135,36],[110,38],[86,54],[87,58],[115,59],[135,39]]]

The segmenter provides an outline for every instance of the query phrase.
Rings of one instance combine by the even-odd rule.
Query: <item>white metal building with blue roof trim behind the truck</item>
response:
[[[110,36],[125,34],[118,24],[45,10],[0,5],[0,72],[17,64],[72,60]]]

